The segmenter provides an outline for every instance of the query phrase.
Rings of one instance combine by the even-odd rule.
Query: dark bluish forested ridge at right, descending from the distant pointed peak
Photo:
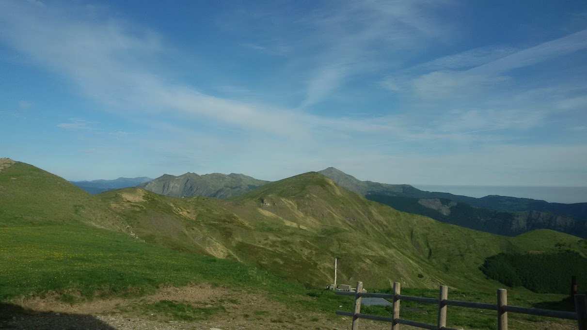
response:
[[[545,228],[587,238],[587,203],[548,203],[494,195],[474,198],[422,191],[407,184],[360,181],[333,167],[319,173],[369,200],[445,223],[508,236]]]

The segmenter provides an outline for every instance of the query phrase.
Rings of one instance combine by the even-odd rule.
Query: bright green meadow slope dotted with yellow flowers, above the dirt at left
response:
[[[157,247],[87,225],[0,224],[0,241],[0,301],[50,291],[69,299],[144,294],[163,284],[198,282],[301,290],[234,260]]]

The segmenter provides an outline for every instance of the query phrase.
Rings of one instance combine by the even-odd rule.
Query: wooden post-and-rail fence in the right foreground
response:
[[[373,319],[375,321],[391,322],[392,330],[399,330],[400,324],[416,326],[417,328],[430,329],[430,330],[457,330],[453,328],[447,328],[446,326],[446,313],[447,306],[458,306],[467,308],[478,308],[478,309],[489,309],[490,311],[497,311],[497,329],[507,330],[508,329],[508,312],[527,314],[527,315],[538,315],[548,316],[552,318],[561,319],[576,319],[579,330],[587,330],[587,298],[585,295],[575,295],[575,312],[564,312],[564,311],[552,311],[550,309],[539,309],[539,308],[528,308],[528,307],[517,307],[508,305],[507,291],[505,289],[497,290],[497,304],[486,304],[483,302],[471,302],[471,301],[460,301],[448,299],[448,288],[444,285],[440,286],[440,294],[437,298],[424,298],[424,297],[413,297],[409,295],[400,294],[400,284],[398,282],[393,283],[393,294],[379,294],[373,292],[361,292],[363,290],[363,282],[357,282],[356,292],[345,292],[336,291],[338,295],[350,295],[355,297],[355,306],[353,312],[336,311],[338,315],[352,316],[352,330],[359,329],[359,319]],[[361,314],[361,298],[372,297],[372,298],[388,298],[392,299],[393,302],[393,315],[392,317],[377,316],[369,314]],[[400,318],[400,301],[415,301],[424,302],[428,304],[438,305],[438,322],[436,325],[426,324],[423,322],[411,321],[409,319]]]

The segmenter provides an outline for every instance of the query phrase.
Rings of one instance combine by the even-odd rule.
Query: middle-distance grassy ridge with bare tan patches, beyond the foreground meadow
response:
[[[492,255],[561,249],[587,255],[581,238],[551,230],[504,237],[445,224],[369,201],[316,172],[230,199],[176,198],[140,187],[90,195],[15,162],[0,171],[0,200],[3,227],[107,228],[174,250],[231,258],[309,287],[332,282],[335,257],[342,282],[492,288],[495,282],[480,271]]]

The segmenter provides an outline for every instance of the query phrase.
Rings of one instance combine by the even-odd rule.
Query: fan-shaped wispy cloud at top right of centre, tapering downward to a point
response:
[[[440,28],[433,9],[447,3],[351,2],[312,16],[309,23],[317,28],[315,38],[325,47],[316,57],[301,106],[320,102],[349,76],[389,66],[393,54],[422,48],[433,38],[446,38],[450,27]]]

